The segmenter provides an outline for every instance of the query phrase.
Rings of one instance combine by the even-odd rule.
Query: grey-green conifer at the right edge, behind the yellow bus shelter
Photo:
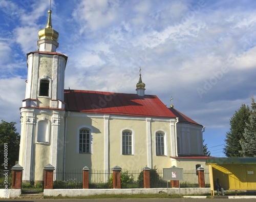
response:
[[[244,138],[240,140],[242,150],[240,153],[244,157],[256,157],[256,103],[251,97],[251,111],[249,121],[243,133]]]

